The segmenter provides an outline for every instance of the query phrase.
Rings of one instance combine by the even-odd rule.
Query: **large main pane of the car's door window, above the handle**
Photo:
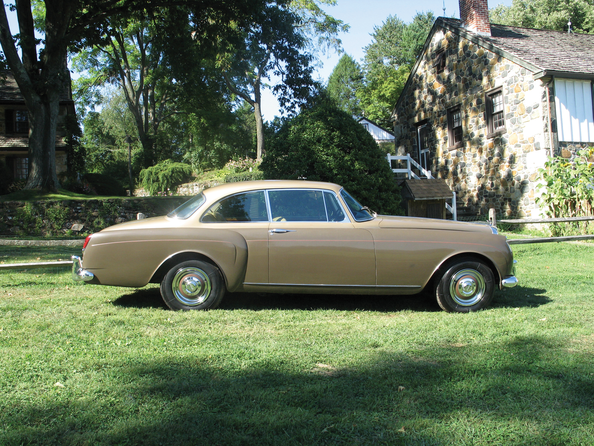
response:
[[[269,190],[272,221],[328,221],[321,190]]]

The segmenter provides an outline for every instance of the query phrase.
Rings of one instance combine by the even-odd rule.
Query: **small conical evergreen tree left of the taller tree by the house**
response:
[[[353,117],[361,115],[357,90],[363,86],[361,65],[348,54],[343,55],[328,77],[326,90],[336,105]]]

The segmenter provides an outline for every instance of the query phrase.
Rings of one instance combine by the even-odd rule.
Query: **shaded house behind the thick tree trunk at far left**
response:
[[[67,145],[64,118],[75,115],[72,83],[64,83],[60,95],[58,128],[56,129],[56,173],[67,170]],[[29,117],[23,95],[10,70],[0,70],[0,160],[7,164],[15,180],[29,174]]]

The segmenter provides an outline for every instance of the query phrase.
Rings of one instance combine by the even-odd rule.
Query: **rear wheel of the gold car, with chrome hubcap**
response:
[[[214,265],[188,260],[173,266],[161,282],[161,296],[172,310],[209,310],[225,295],[225,279]]]

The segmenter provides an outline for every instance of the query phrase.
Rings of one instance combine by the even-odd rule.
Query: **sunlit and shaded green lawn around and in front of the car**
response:
[[[174,313],[154,285],[1,273],[0,445],[592,445],[594,244],[513,249],[521,285],[471,314],[288,294]]]

